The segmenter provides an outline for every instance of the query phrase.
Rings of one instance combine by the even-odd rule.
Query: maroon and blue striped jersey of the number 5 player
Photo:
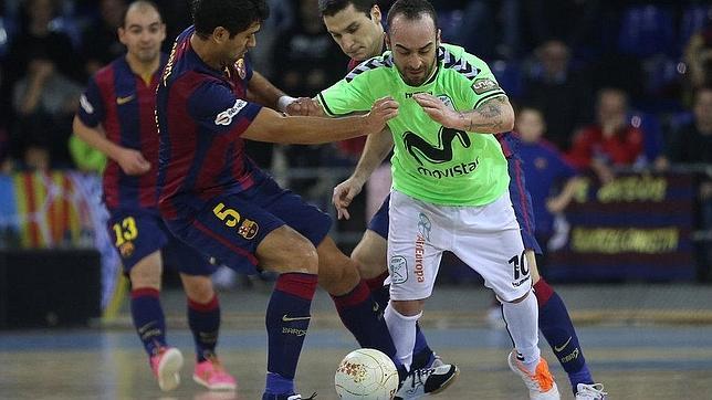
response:
[[[191,215],[207,200],[241,192],[263,176],[240,137],[262,108],[245,98],[250,64],[216,70],[190,45],[195,28],[174,43],[158,84],[158,202],[165,219]]]

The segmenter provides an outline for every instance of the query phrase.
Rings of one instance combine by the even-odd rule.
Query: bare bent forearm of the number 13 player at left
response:
[[[150,170],[150,162],[144,158],[140,151],[122,147],[107,139],[101,126],[96,128],[88,127],[78,116],[74,116],[72,128],[74,134],[82,140],[116,161],[125,173],[142,175]]]

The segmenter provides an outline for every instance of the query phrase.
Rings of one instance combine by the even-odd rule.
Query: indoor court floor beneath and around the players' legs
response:
[[[187,361],[177,390],[158,389],[127,316],[122,314],[102,328],[0,331],[0,399],[259,400],[265,369],[261,312],[232,312],[230,304],[240,304],[242,297],[221,296],[224,322],[219,355],[238,377],[239,388],[210,392],[192,382],[192,341],[182,322],[180,294],[168,296],[172,296],[165,301],[168,338]],[[269,298],[265,293],[242,296],[248,308]],[[475,297],[482,304],[488,295]],[[452,299],[462,302],[461,294],[452,294]],[[431,347],[444,360],[456,362],[461,373],[433,399],[527,399],[524,385],[506,366],[511,341],[505,330],[483,323],[481,305],[472,313],[460,313],[450,309],[448,302],[434,302],[438,309],[429,308],[423,327]],[[337,399],[335,368],[356,347],[338,326],[329,303],[323,294],[315,301],[314,323],[296,379],[303,396],[317,391],[318,400]],[[573,314],[590,369],[606,385],[609,399],[712,399],[712,325],[632,319],[591,324]],[[572,399],[566,375],[543,339],[541,347],[562,398]]]

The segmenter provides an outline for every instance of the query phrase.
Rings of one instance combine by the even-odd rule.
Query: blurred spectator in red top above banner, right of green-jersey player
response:
[[[603,182],[614,178],[611,167],[632,166],[643,156],[643,133],[630,125],[628,96],[618,88],[598,92],[597,123],[576,134],[568,160],[591,169]]]

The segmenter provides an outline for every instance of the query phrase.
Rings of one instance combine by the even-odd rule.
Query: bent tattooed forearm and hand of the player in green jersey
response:
[[[430,118],[448,128],[478,134],[501,134],[514,128],[514,109],[506,96],[491,98],[469,112],[450,109],[440,98],[427,93],[418,93],[412,98]]]

